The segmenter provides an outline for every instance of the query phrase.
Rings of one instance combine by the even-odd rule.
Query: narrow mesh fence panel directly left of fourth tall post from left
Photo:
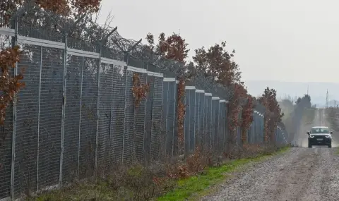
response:
[[[110,150],[112,166],[122,163],[124,145],[124,117],[126,94],[126,67],[113,66],[112,138]]]

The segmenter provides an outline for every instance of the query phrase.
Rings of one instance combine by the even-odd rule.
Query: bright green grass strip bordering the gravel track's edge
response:
[[[287,150],[289,150],[289,147],[283,147],[278,152],[273,152],[271,154],[262,154],[255,158],[237,159],[227,162],[220,167],[209,168],[200,176],[193,176],[177,181],[177,187],[174,188],[174,190],[162,197],[158,197],[157,200],[198,200],[198,197],[211,193],[211,190],[213,189],[209,187],[225,181],[227,173],[237,171],[237,169],[244,167],[244,165],[249,164],[249,162],[259,162],[263,159],[267,159],[267,157],[281,154]]]

